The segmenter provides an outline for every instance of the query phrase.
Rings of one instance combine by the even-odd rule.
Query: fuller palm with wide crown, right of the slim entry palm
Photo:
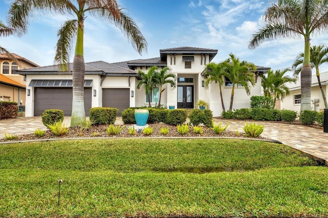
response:
[[[256,66],[254,63],[247,61],[240,61],[233,54],[229,55],[230,58],[223,61],[221,64],[225,69],[224,76],[226,76],[232,82],[231,100],[229,111],[232,111],[232,105],[234,101],[235,86],[242,86],[248,95],[251,94],[249,82],[254,85],[254,73]]]

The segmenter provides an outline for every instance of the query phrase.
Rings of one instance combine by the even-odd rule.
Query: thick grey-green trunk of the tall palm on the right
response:
[[[301,111],[311,110],[310,39],[305,38],[303,67],[301,70]]]

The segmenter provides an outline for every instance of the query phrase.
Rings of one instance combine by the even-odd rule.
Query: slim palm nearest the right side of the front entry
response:
[[[222,88],[221,88],[224,82],[224,67],[222,66],[221,63],[211,62],[207,64],[205,70],[206,73],[204,74],[204,78],[206,78],[205,79],[206,87],[208,87],[209,84],[213,81],[219,84],[222,110],[225,112],[226,108],[224,107]]]

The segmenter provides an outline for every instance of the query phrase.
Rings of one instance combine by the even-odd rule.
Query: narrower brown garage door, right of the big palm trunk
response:
[[[130,107],[130,89],[103,89],[103,107],[118,108],[118,116]]]

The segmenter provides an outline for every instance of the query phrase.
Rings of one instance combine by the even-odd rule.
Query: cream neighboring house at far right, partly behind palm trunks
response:
[[[328,72],[320,73],[320,81],[324,94],[327,96],[328,93]],[[298,77],[296,83],[286,83],[290,89],[290,95],[280,100],[280,108],[293,110],[300,112],[301,110],[301,80]],[[279,108],[278,108],[279,109]],[[313,111],[323,111],[324,102],[322,98],[322,93],[319,88],[318,78],[316,75],[312,76],[312,87],[311,87],[311,110]]]

